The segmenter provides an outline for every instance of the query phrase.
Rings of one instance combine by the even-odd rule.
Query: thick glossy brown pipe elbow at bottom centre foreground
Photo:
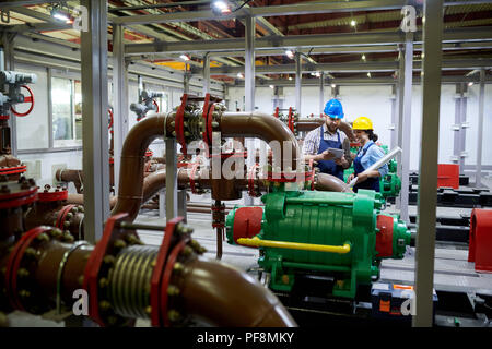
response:
[[[199,257],[178,281],[187,314],[227,327],[297,326],[273,293],[233,266]]]

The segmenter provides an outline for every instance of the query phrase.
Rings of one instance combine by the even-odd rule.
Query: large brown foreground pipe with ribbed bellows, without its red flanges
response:
[[[19,254],[22,276],[11,275],[17,286],[8,287],[7,298],[15,309],[34,314],[46,313],[55,306],[61,310],[61,304],[71,309],[73,292],[81,288],[86,276],[94,246],[84,242],[66,243],[55,228],[36,229],[43,233]],[[36,252],[43,257],[33,257]],[[108,290],[105,300],[99,301],[101,309],[109,305],[124,317],[149,317],[149,290],[159,252],[159,246],[136,244],[122,248],[113,258],[105,258],[110,262],[105,263],[110,265],[113,277],[98,280]],[[181,261],[183,273],[173,281],[173,290],[180,290],[173,304],[183,304],[188,315],[216,326],[296,326],[277,297],[245,272],[192,255],[191,252],[189,258]],[[0,256],[0,268],[10,265],[10,260],[9,254]],[[0,286],[5,287],[3,281],[1,278]],[[121,288],[119,282],[129,287]]]

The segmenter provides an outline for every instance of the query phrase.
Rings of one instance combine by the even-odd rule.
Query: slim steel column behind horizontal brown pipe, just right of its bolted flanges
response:
[[[256,20],[254,17],[245,19],[246,33],[245,33],[245,111],[255,111],[255,34],[256,34]],[[251,168],[256,163],[256,147],[254,139],[246,139],[245,145],[248,151],[247,167]],[[249,195],[244,196],[245,205],[253,205],[253,197]]]

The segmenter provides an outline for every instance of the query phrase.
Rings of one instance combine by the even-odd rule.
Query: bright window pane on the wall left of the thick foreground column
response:
[[[82,93],[79,80],[51,77],[54,147],[82,145]]]

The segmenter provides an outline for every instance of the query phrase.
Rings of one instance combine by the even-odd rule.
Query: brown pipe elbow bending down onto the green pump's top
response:
[[[279,119],[268,113],[253,112],[224,112],[220,121],[220,131],[223,137],[258,137],[266,142],[280,142],[281,168],[283,171],[291,167],[297,168],[297,160],[302,159],[301,147],[295,135]],[[284,154],[284,142],[289,142],[292,157],[291,164],[285,164],[288,157]]]

